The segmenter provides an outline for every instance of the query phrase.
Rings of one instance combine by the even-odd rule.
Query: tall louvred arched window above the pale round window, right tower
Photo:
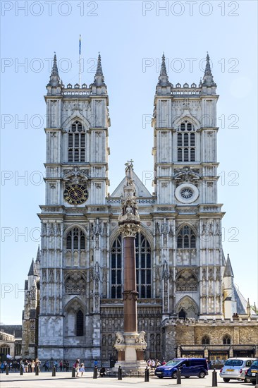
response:
[[[178,128],[178,162],[195,162],[195,128],[184,121]]]

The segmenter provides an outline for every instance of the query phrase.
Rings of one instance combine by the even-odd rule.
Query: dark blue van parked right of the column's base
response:
[[[155,370],[155,375],[162,379],[163,377],[172,377],[176,379],[176,371],[180,369],[181,376],[188,378],[197,376],[203,379],[208,375],[208,365],[206,358],[174,358],[165,365],[159,366]]]

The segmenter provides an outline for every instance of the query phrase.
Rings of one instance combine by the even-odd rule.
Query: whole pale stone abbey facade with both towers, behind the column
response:
[[[236,312],[217,203],[218,97],[208,55],[199,85],[183,86],[169,82],[162,57],[152,120],[153,195],[130,164],[140,215],[137,311],[138,330],[147,333],[145,358],[173,356],[168,344],[175,345],[176,328],[168,318],[221,318]],[[100,55],[89,86],[63,85],[54,56],[44,98],[46,203],[39,214],[40,273],[32,274],[40,276],[37,356],[107,361],[116,358],[115,333],[124,327],[118,217],[127,178],[108,193],[109,96]]]

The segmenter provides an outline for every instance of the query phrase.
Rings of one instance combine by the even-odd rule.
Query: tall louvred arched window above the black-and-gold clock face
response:
[[[85,162],[85,131],[80,121],[75,121],[68,133],[68,162]]]

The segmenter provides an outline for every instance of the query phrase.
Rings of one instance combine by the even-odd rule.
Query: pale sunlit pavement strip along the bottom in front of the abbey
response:
[[[1,388],[73,388],[73,387],[99,387],[101,384],[103,388],[113,387],[195,387],[195,388],[208,388],[212,387],[212,375],[209,372],[209,376],[204,379],[192,377],[189,379],[182,378],[182,384],[177,384],[176,380],[170,378],[158,379],[157,377],[149,377],[149,382],[145,382],[144,377],[123,377],[123,380],[119,381],[114,377],[103,377],[93,379],[93,372],[85,372],[82,377],[71,378],[71,372],[57,372],[56,377],[52,377],[51,372],[42,372],[39,376],[35,376],[35,373],[25,373],[20,376],[18,372],[9,372],[9,375],[4,373],[0,375]],[[218,373],[218,387],[221,388],[248,388],[254,387],[251,383],[244,383],[232,380],[225,383],[219,377]]]

